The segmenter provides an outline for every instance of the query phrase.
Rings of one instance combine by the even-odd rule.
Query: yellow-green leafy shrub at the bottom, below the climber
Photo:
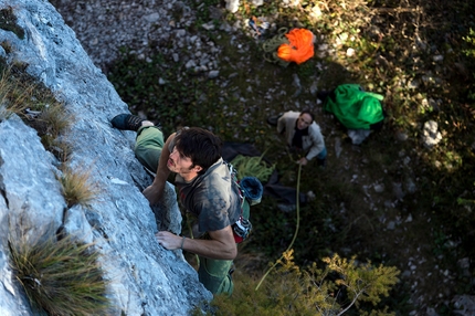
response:
[[[239,275],[231,297],[213,299],[215,315],[340,315],[360,301],[376,305],[398,282],[394,267],[357,264],[355,259],[338,255],[324,261],[324,270],[316,263],[300,268],[294,263],[293,251],[285,252],[261,289],[254,291],[256,280]],[[349,302],[340,301],[341,291]]]

